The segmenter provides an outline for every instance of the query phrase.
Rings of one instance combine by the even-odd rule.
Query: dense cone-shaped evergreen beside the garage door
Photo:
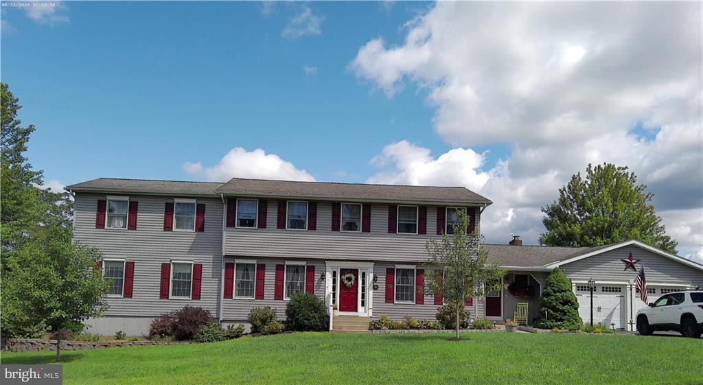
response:
[[[535,327],[578,330],[582,324],[571,282],[560,268],[555,268],[542,290]]]

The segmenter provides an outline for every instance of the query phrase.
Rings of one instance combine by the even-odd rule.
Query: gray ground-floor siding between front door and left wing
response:
[[[236,258],[226,258],[225,263],[236,262]],[[222,318],[224,322],[247,322],[249,312],[253,308],[269,306],[276,310],[279,320],[285,320],[285,305],[288,300],[273,299],[273,290],[276,286],[276,265],[284,265],[283,259],[257,258],[257,263],[266,264],[264,275],[264,299],[232,298],[222,300]],[[320,260],[306,260],[307,266],[315,266],[315,295],[325,299],[325,281],[320,279],[325,271],[325,262]]]

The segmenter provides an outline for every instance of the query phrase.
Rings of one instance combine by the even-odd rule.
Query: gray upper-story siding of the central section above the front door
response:
[[[278,230],[278,201],[267,210],[266,229],[226,228],[226,255],[417,263],[427,260],[425,242],[438,237],[437,207],[427,207],[427,235],[389,234],[387,204],[371,205],[370,233],[332,231],[331,202],[318,202],[316,230]]]

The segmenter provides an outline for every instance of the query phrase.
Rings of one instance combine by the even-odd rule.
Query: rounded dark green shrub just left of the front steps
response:
[[[295,293],[285,305],[285,327],[299,332],[326,332],[330,315],[325,303],[311,293]]]

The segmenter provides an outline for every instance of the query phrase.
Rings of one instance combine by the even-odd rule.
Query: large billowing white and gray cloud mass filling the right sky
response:
[[[572,174],[589,162],[627,165],[655,194],[682,254],[703,254],[702,11],[700,3],[436,4],[406,23],[402,44],[371,39],[350,67],[389,98],[408,85],[422,91],[434,130],[457,148],[437,158],[407,148],[413,162],[384,150],[390,167],[370,180],[481,186],[495,202],[484,213],[488,240],[520,233],[534,243],[539,208]],[[659,131],[638,138],[638,124]],[[453,156],[491,143],[512,150],[493,169]],[[451,176],[440,162],[450,155],[471,178]]]

